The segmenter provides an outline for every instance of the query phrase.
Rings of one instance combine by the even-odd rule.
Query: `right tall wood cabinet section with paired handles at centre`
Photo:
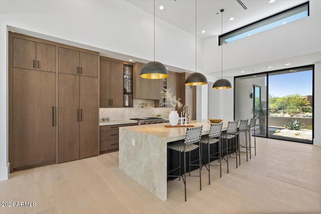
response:
[[[98,56],[76,52],[58,52],[58,163],[98,155]]]

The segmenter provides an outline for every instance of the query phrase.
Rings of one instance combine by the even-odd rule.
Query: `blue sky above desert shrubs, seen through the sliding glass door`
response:
[[[273,97],[312,95],[312,71],[269,76],[269,94]]]

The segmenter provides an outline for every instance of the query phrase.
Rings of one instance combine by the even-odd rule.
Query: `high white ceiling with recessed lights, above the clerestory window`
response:
[[[127,0],[126,2],[153,15],[153,0]],[[195,8],[197,3],[197,37],[205,40],[223,34],[278,12],[300,5],[306,0],[241,0],[247,10],[237,0],[156,0],[155,16],[190,34],[195,35]],[[164,6],[159,10],[159,6]],[[221,15],[220,10],[224,9]],[[233,21],[229,19],[233,17]],[[206,31],[202,33],[202,31]]]

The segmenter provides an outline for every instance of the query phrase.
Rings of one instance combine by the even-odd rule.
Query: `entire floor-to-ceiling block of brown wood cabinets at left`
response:
[[[11,172],[98,155],[98,67],[97,52],[9,32]]]

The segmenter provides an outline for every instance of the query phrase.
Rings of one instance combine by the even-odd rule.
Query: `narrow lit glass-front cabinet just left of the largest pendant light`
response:
[[[132,66],[124,65],[124,107],[132,107]]]

